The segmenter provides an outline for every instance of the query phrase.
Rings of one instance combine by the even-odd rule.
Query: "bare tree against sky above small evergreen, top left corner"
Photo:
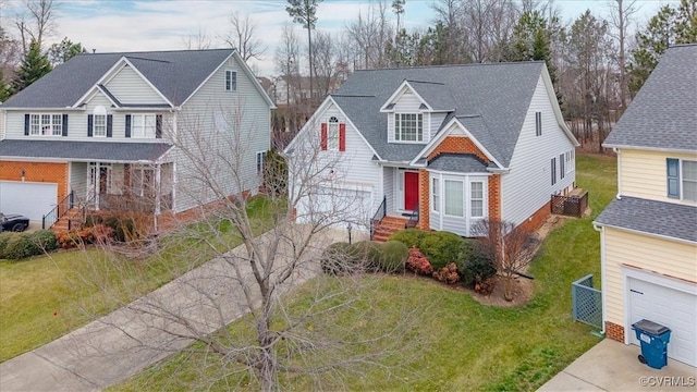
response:
[[[57,8],[53,0],[25,0],[25,13],[20,14],[15,21],[24,54],[26,54],[32,40],[41,47],[44,38],[53,33]]]

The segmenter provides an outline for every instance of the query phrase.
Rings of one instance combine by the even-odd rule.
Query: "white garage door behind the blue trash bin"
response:
[[[629,323],[656,321],[672,330],[668,356],[697,366],[697,295],[629,278]],[[639,345],[628,329],[631,342]]]

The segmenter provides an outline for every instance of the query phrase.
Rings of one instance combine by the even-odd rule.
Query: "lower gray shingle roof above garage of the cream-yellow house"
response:
[[[697,206],[624,196],[612,200],[595,223],[697,243]]]

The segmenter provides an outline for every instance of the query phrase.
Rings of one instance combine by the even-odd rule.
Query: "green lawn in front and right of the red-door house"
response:
[[[585,219],[567,220],[548,236],[529,271],[535,277],[535,294],[527,305],[519,308],[485,306],[465,292],[452,291],[429,280],[367,277],[378,282],[370,285],[371,291],[363,293],[356,307],[370,304],[372,314],[379,317],[346,314],[340,320],[343,328],[369,333],[393,324],[395,309],[423,304],[430,304],[430,308],[420,314],[418,329],[404,341],[407,348],[401,357],[417,360],[405,362],[405,368],[396,372],[367,368],[340,387],[347,390],[528,391],[539,388],[595,345],[598,338],[590,333],[592,328],[571,318],[571,283],[588,273],[596,277],[596,285],[600,283],[599,234],[591,222],[616,193],[615,160],[578,156],[576,168],[578,186],[589,189],[592,213]],[[321,279],[325,278],[318,280]],[[305,291],[311,292],[307,286],[302,287],[293,296],[293,304],[301,306],[310,299],[304,295]],[[230,330],[249,333],[242,322],[233,323]],[[387,362],[386,365],[394,365],[398,359]],[[201,363],[207,367],[197,366]],[[230,385],[258,389],[246,376],[222,377],[212,384],[203,381],[203,376],[219,377],[231,370],[234,366],[222,368],[210,353],[206,358],[180,353],[112,390],[184,391],[192,385],[212,390]],[[284,390],[314,387],[311,380],[303,376],[281,376],[280,381]],[[332,380],[327,382],[330,383],[325,388],[332,389]]]

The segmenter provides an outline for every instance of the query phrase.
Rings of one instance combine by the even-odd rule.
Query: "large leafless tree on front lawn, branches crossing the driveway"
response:
[[[195,210],[203,218],[196,224],[172,218],[170,224],[181,224],[171,234],[160,235],[161,253],[147,261],[147,268],[180,264],[180,270],[191,272],[174,282],[174,291],[127,304],[120,310],[127,326],[110,318],[100,321],[127,335],[133,341],[131,352],[139,350],[138,355],[163,356],[183,350],[196,377],[174,375],[168,385],[187,390],[276,391],[290,389],[298,380],[309,389],[338,390],[345,388],[347,377],[367,369],[406,371],[402,366],[414,358],[402,351],[420,344],[408,336],[416,327],[414,316],[424,309],[396,304],[387,310],[395,322],[377,324],[384,320],[374,307],[384,301],[378,294],[379,280],[321,273],[321,260],[329,257],[323,249],[333,238],[345,237],[345,224],[367,224],[360,218],[366,211],[356,213],[362,205],[358,194],[335,186],[343,180],[338,168],[345,158],[323,151],[319,132],[310,132],[286,157],[288,177],[264,175],[279,166],[255,160],[253,135],[268,130],[255,125],[261,122],[244,108],[242,102],[210,108],[212,131],[201,128],[210,123],[208,115],[180,113],[176,132],[166,135],[174,146],[172,154],[182,157],[178,182],[186,186],[178,200],[206,207]],[[249,175],[255,162],[258,177]],[[260,177],[288,181],[288,193],[248,198],[244,191],[258,186]],[[266,185],[284,188],[280,183]],[[338,225],[340,230],[332,229]],[[355,266],[347,255],[331,257],[345,270]],[[143,271],[137,264],[118,258],[105,262],[123,266],[124,287],[138,285]],[[83,275],[99,279],[88,271]],[[106,293],[112,289],[103,287]],[[398,290],[390,295],[401,294]],[[346,317],[355,322],[347,324]],[[156,342],[148,336],[156,336]],[[113,350],[101,344],[97,339],[88,351]]]

